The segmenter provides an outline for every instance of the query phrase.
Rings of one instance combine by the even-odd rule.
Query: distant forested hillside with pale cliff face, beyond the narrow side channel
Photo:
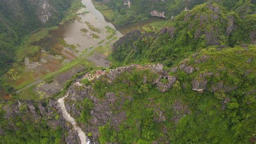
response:
[[[149,16],[166,17],[167,20],[177,16],[183,10],[191,10],[196,5],[214,2],[227,10],[235,10],[243,3],[253,0],[95,0],[110,7],[114,13],[111,19],[117,26],[133,23]]]

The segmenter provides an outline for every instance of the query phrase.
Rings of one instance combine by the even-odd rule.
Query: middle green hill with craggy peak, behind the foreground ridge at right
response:
[[[197,5],[169,20],[159,34],[127,33],[116,42],[112,57],[119,64],[161,62],[171,66],[207,46],[256,44],[255,16],[253,4],[243,3],[230,12],[215,3]]]

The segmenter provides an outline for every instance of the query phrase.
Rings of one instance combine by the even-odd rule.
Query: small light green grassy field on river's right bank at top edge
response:
[[[92,3],[94,4],[96,10],[101,12],[105,18],[111,21],[113,16],[113,10],[110,7],[94,0],[92,0]]]

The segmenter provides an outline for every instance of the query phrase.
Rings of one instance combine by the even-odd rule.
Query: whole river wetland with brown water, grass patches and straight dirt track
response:
[[[41,29],[27,37],[24,47],[38,49],[21,59],[15,69],[20,79],[10,83],[23,99],[40,100],[62,90],[63,82],[84,68],[103,66],[111,63],[106,57],[112,52],[112,45],[123,33],[131,29],[143,30],[153,18],[123,27],[115,27],[95,9],[91,0],[82,0],[82,7],[76,16],[51,29]],[[23,62],[22,62],[23,61]],[[49,81],[49,79],[52,79]],[[64,80],[64,81],[63,81]]]

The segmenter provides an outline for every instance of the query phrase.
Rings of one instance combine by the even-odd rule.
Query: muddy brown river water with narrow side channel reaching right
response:
[[[43,39],[40,39],[38,42],[32,43],[34,46],[39,46],[39,61],[34,62],[33,59],[25,58],[25,70],[28,75],[32,76],[35,80],[30,85],[27,85],[24,88],[19,90],[22,91],[31,85],[36,85],[43,81],[42,76],[50,72],[59,72],[65,63],[69,63],[74,59],[79,57],[86,58],[87,60],[94,63],[95,66],[109,67],[109,63],[105,56],[98,52],[93,52],[91,56],[88,54],[98,46],[110,45],[112,46],[116,40],[113,40],[110,43],[111,39],[106,39],[108,33],[105,26],[109,26],[112,29],[116,30],[116,35],[119,39],[125,33],[132,29],[139,29],[143,31],[143,26],[149,26],[149,23],[156,22],[159,20],[164,20],[160,17],[151,17],[146,20],[141,20],[136,23],[128,24],[126,26],[116,27],[109,20],[95,9],[91,0],[82,0],[82,3],[86,8],[82,8],[78,13],[84,11],[89,12],[86,14],[81,14],[79,17],[67,20],[62,24],[58,25],[58,29],[49,31],[49,36],[46,36]],[[92,31],[89,29],[89,26],[86,23],[90,23],[91,26],[98,28],[100,33]],[[87,29],[88,32],[81,32],[80,29]],[[99,36],[98,39],[92,38],[92,33]],[[64,39],[67,44],[75,45],[76,48],[70,49],[65,46],[59,45],[58,39]],[[100,41],[104,40],[103,43],[98,44]],[[86,52],[84,52],[87,49]],[[23,78],[26,79],[26,78]],[[23,80],[18,80],[17,83],[22,83]]]

